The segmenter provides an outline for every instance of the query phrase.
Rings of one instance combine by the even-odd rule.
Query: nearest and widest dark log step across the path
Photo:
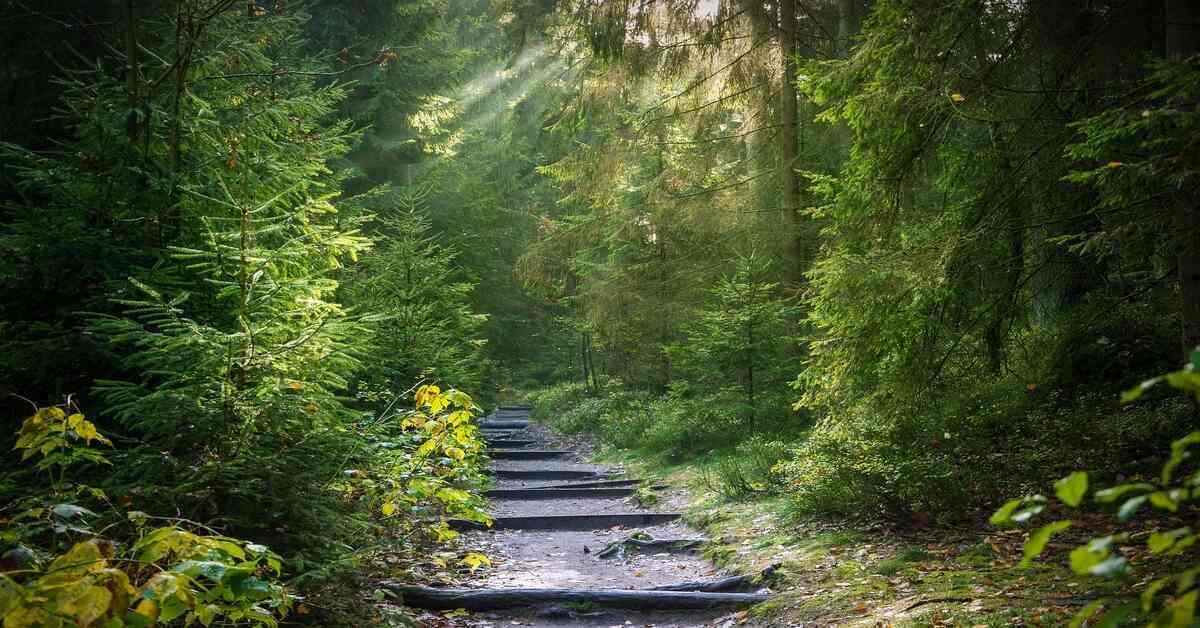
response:
[[[546,604],[580,604],[640,610],[713,609],[751,606],[770,599],[770,596],[762,593],[700,593],[622,588],[432,588],[395,582],[380,582],[380,586],[398,594],[401,603],[406,606],[430,610],[488,611]]]

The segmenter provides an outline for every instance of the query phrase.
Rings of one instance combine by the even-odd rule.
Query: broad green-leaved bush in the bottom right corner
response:
[[[1184,369],[1142,382],[1126,391],[1122,401],[1133,402],[1159,383],[1183,390],[1200,402],[1200,349],[1192,353],[1192,360]],[[1195,462],[1198,451],[1200,451],[1200,431],[1171,443],[1170,456],[1157,477],[1135,478],[1134,482],[1097,489],[1092,485],[1087,472],[1075,471],[1055,483],[1055,496],[1063,507],[1082,509],[1085,500],[1091,494],[1092,502],[1099,508],[1114,510],[1121,524],[1118,531],[1092,538],[1070,550],[1068,564],[1076,574],[1104,578],[1130,576],[1134,566],[1126,558],[1122,548],[1140,545],[1142,538],[1148,554],[1175,557],[1163,568],[1170,573],[1150,574],[1148,582],[1138,599],[1096,599],[1076,614],[1073,626],[1081,626],[1085,621],[1102,622],[1103,626],[1138,621],[1148,626],[1171,628],[1194,624],[1196,602],[1200,599],[1200,586],[1196,581],[1200,563],[1196,563],[1192,549],[1196,540],[1200,540],[1200,530],[1194,525],[1162,530],[1158,522],[1163,519],[1154,518],[1141,524],[1138,518],[1145,514],[1146,509],[1157,510],[1170,521],[1195,516],[1198,512],[1195,504],[1200,500],[1200,467]],[[1050,506],[1051,500],[1044,495],[1009,500],[992,514],[991,524],[1025,525]],[[1074,524],[1073,520],[1060,519],[1032,531],[1025,543],[1021,566],[1026,567],[1042,556],[1055,534],[1069,530]]]

